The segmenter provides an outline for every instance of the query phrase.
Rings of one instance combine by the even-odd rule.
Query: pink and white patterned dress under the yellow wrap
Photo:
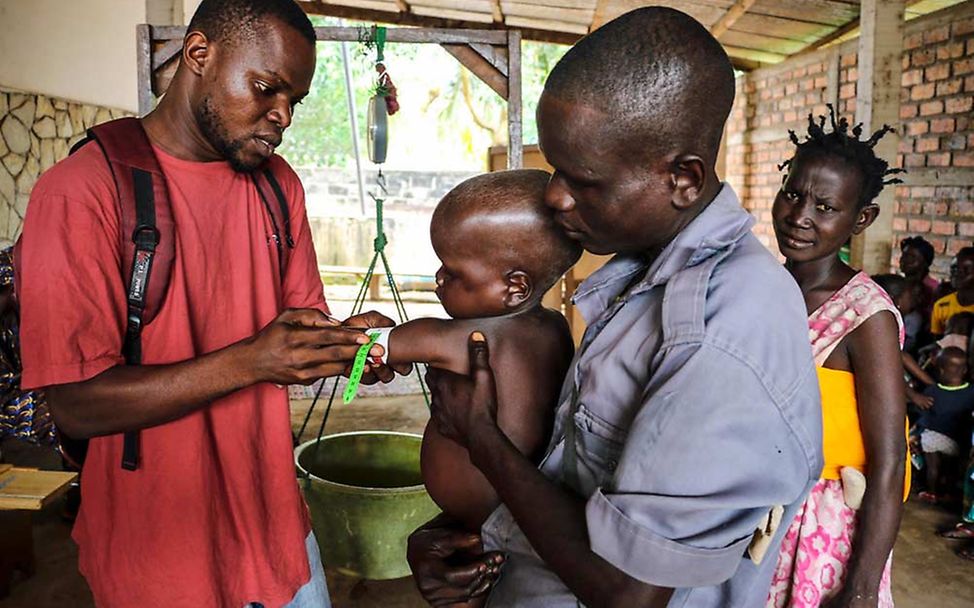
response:
[[[821,367],[844,337],[872,315],[888,310],[896,317],[903,344],[903,321],[889,296],[865,273],[858,273],[808,318],[815,365]],[[845,504],[842,482],[820,479],[788,528],[778,554],[767,607],[814,608],[845,581],[852,554],[856,511]],[[879,606],[893,606],[892,555],[879,584]]]

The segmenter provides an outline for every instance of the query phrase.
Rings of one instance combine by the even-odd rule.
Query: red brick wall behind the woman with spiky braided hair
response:
[[[834,103],[856,110],[857,40],[755,70],[738,78],[728,123],[727,179],[758,220],[755,234],[773,251],[770,210],[781,184],[777,165],[793,147],[789,129]],[[895,162],[909,173],[896,188],[895,239],[922,234],[934,243],[934,272],[946,276],[950,256],[974,237],[974,3],[905,26],[902,135]],[[893,247],[890,260],[898,261]]]

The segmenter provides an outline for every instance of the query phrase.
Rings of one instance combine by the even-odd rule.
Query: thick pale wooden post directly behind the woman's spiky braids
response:
[[[859,80],[856,83],[856,121],[864,137],[884,124],[900,120],[900,75],[903,54],[904,0],[863,0],[859,17]],[[899,132],[889,133],[876,145],[876,154],[893,161]],[[880,214],[861,235],[852,239],[852,265],[866,272],[889,272],[893,244],[894,188],[876,199]]]

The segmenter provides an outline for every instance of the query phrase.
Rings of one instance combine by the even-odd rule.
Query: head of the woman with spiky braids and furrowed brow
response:
[[[824,116],[808,116],[808,136],[801,140],[789,132],[795,155],[782,163],[788,173],[775,197],[772,220],[781,253],[793,262],[807,262],[836,255],[854,234],[869,227],[879,215],[874,200],[886,179],[901,169],[876,156],[873,147],[889,131],[884,126],[860,140],[862,125],[851,127],[845,118],[836,120],[829,105],[831,131]]]

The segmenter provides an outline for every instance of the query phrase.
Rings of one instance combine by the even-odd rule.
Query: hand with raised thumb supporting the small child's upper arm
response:
[[[497,426],[497,387],[490,367],[487,338],[479,331],[470,334],[470,375],[430,369],[430,419],[444,437],[469,447],[477,428]]]

